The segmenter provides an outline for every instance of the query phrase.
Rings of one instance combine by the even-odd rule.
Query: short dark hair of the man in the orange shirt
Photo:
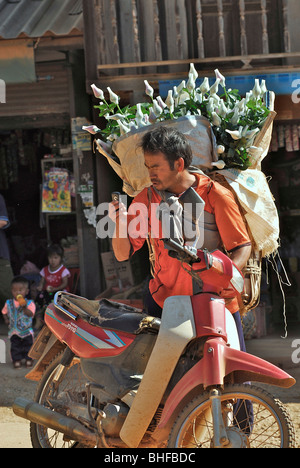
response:
[[[169,161],[171,169],[179,158],[184,159],[184,168],[187,169],[193,159],[192,148],[185,136],[171,127],[159,126],[147,132],[140,144],[144,153],[163,153]]]

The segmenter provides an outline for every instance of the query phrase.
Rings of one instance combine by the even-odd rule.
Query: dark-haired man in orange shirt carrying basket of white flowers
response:
[[[184,135],[172,128],[158,127],[143,137],[141,147],[152,182],[150,197],[149,190],[144,189],[135,197],[128,213],[122,203],[113,202],[110,205],[110,217],[116,221],[112,246],[117,260],[127,260],[143,246],[147,233],[151,232],[149,215],[146,227],[143,228],[143,235],[124,236],[124,231],[134,219],[135,215],[131,213],[134,213],[136,203],[145,204],[150,208],[150,203],[162,201],[162,194],[165,192],[180,197],[187,189],[193,187],[205,202],[205,214],[214,220],[223,247],[233,262],[242,269],[250,256],[251,242],[239,207],[229,190],[213,182],[206,175],[192,172],[189,169],[192,162],[192,150]],[[120,232],[122,236],[119,236]],[[203,247],[209,244],[209,240],[209,230],[206,230]],[[150,315],[160,316],[164,301],[168,296],[193,294],[193,282],[180,262],[169,256],[163,241],[155,238],[151,242],[155,252],[155,274],[149,283],[149,294],[145,298],[145,306]],[[214,246],[214,248],[218,247],[220,246]],[[244,339],[237,299],[226,300],[226,306],[236,320],[243,349]]]

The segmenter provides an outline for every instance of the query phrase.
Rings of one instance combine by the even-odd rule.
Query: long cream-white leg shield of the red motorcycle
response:
[[[163,398],[178,360],[196,337],[189,296],[168,297],[164,303],[157,340],[143,379],[120,431],[128,447],[137,448]]]

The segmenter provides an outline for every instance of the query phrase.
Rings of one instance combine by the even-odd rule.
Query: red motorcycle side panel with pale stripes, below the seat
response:
[[[45,322],[60,341],[82,358],[118,355],[135,339],[135,335],[94,327],[81,318],[75,322],[51,305],[46,309]]]

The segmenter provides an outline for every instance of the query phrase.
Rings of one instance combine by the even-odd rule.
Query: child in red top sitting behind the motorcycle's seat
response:
[[[36,302],[40,305],[48,305],[57,291],[68,291],[68,282],[71,276],[69,270],[63,265],[63,248],[54,244],[47,250],[49,265],[44,267],[40,275],[42,277],[37,289],[40,291]]]

